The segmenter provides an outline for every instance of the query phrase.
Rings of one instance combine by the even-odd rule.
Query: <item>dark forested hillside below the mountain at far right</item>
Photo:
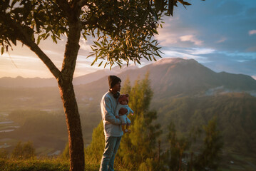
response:
[[[178,135],[189,135],[197,125],[216,118],[225,150],[251,155],[256,152],[256,98],[247,93],[170,98],[158,110],[158,122],[175,123]],[[165,103],[165,105],[163,105]]]

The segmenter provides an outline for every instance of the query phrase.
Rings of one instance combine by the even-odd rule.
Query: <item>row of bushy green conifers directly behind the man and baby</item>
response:
[[[168,129],[156,123],[157,112],[150,110],[153,91],[148,75],[142,81],[130,86],[126,80],[121,93],[130,94],[128,105],[135,111],[129,118],[131,133],[123,135],[116,157],[116,165],[127,170],[216,170],[221,157],[222,136],[217,130],[215,119],[210,120],[203,129],[197,129],[188,137],[176,134],[175,125]],[[160,139],[167,133],[165,147]],[[93,130],[91,144],[86,148],[87,162],[101,162],[104,149],[103,124]],[[66,152],[66,155],[68,153]]]

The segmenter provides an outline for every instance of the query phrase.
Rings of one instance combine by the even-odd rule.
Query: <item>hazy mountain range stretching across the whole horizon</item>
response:
[[[193,59],[163,58],[142,68],[126,68],[117,76],[123,82],[129,77],[133,85],[135,80],[143,78],[147,72],[150,73],[150,84],[154,92],[153,103],[189,95],[204,96],[229,92],[247,92],[256,95],[256,81],[252,77],[225,72],[215,73]],[[78,105],[84,105],[91,100],[98,102],[101,99],[103,93],[108,90],[108,74],[106,71],[96,71],[74,78],[75,85],[78,85],[74,86]],[[22,80],[22,78],[19,79]],[[16,85],[19,84],[16,83]],[[57,86],[52,88],[0,88],[0,93],[0,108],[9,108],[9,106],[13,108],[21,106],[56,108],[54,106],[57,104],[62,108]],[[36,103],[38,101],[40,103]],[[166,102],[168,103],[168,100]]]

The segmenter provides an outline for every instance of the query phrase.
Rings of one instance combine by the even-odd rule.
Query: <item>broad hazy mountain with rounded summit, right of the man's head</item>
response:
[[[193,59],[163,58],[143,68],[124,71],[117,76],[125,81],[130,78],[131,83],[143,78],[149,72],[154,98],[168,98],[183,95],[205,95],[205,93],[256,91],[256,81],[246,75],[232,73],[215,73]],[[108,79],[103,77],[84,86],[78,86],[88,95],[93,92],[108,90]],[[208,94],[209,95],[209,94]]]

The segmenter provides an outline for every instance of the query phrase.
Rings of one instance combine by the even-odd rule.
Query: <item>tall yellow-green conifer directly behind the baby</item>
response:
[[[157,140],[161,130],[159,124],[153,123],[157,119],[157,113],[149,110],[153,91],[148,76],[149,73],[142,81],[135,81],[132,88],[126,80],[121,91],[130,94],[128,105],[135,114],[129,117],[132,123],[131,133],[123,136],[118,155],[127,166],[133,167],[133,170],[144,170],[145,167],[148,170],[157,168]]]

